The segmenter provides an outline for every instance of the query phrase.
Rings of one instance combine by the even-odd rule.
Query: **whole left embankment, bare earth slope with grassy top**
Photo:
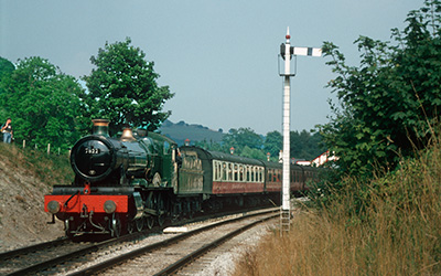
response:
[[[61,169],[68,167],[67,158],[23,152],[3,142],[0,155],[0,252],[63,236],[62,223],[46,224],[52,217],[43,202],[53,183],[71,178]]]

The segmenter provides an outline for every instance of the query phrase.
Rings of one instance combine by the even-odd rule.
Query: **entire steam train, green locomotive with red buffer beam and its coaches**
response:
[[[280,163],[178,145],[155,132],[126,128],[108,134],[109,121],[95,119],[93,134],[72,148],[75,179],[54,185],[44,210],[64,222],[68,237],[119,236],[225,206],[280,203]],[[291,166],[291,191],[316,178],[316,169]]]

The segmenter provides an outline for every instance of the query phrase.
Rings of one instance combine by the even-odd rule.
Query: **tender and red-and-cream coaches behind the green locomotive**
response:
[[[282,164],[256,159],[208,151],[198,147],[181,147],[181,194],[203,193],[211,197],[256,194],[270,195],[280,201]],[[306,189],[305,183],[316,176],[315,168],[291,166],[292,192]]]

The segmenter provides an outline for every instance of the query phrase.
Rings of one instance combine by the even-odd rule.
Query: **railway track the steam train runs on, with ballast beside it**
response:
[[[276,209],[271,210],[273,211]],[[246,216],[244,215],[243,217]],[[227,221],[240,221],[243,220],[243,217],[238,216],[236,219],[229,219]],[[95,262],[95,259],[109,259],[109,256],[117,255],[117,258],[121,259],[118,261],[118,263],[120,263],[123,262],[125,257],[132,258],[132,256],[139,255],[139,252],[141,252],[141,250],[133,248],[140,247],[138,244],[141,244],[143,240],[149,240],[150,243],[152,243],[151,241],[153,241],[154,244],[149,245],[150,248],[153,250],[154,247],[164,247],[165,245],[173,243],[173,241],[185,238],[185,236],[195,235],[198,232],[203,233],[208,229],[216,229],[220,226],[220,224],[226,223],[227,222],[212,223],[208,226],[200,227],[197,230],[181,235],[159,235],[158,233],[162,230],[160,229],[153,233],[133,233],[122,236],[120,238],[112,238],[100,243],[75,243],[67,238],[56,240],[53,242],[37,244],[25,248],[19,248],[12,252],[1,253],[0,275],[66,275],[71,272],[73,272],[73,275],[89,275],[90,272],[97,273],[99,269],[105,269],[109,266],[104,264],[94,265],[93,262]],[[149,246],[147,247],[149,248]],[[149,251],[148,248],[147,251]],[[142,251],[146,251],[146,248]],[[122,254],[121,252],[127,253]],[[115,258],[107,261],[108,264],[115,264],[116,262],[117,261]],[[106,264],[106,261],[103,261],[101,263]],[[88,264],[88,267],[82,268],[83,270],[73,270],[73,267],[82,267],[82,265],[84,264]]]

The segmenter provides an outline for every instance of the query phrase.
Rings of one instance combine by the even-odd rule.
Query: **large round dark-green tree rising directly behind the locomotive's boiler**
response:
[[[125,42],[106,43],[90,62],[96,66],[89,76],[84,76],[88,93],[82,95],[85,116],[110,119],[110,132],[123,125],[148,127],[154,130],[170,116],[162,113],[163,104],[173,97],[168,86],[158,86],[159,74],[146,54]]]

